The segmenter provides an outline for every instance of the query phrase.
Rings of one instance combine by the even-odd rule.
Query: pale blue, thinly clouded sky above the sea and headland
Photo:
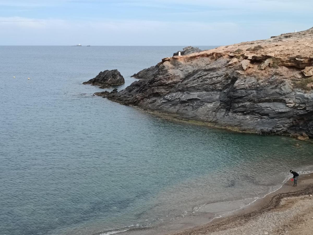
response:
[[[0,0],[0,45],[228,45],[313,27],[312,0]]]

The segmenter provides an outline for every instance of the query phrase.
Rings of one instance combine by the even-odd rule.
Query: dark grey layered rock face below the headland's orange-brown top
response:
[[[259,134],[307,133],[313,138],[313,92],[294,91],[276,75],[266,79],[229,69],[221,57],[210,68],[186,66],[133,82],[107,98],[122,104]],[[179,70],[179,71],[178,71]],[[166,73],[167,71],[167,73]],[[181,76],[174,76],[180,74]]]

